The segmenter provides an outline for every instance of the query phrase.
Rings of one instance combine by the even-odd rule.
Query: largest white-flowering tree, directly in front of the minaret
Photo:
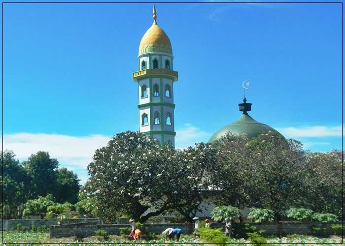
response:
[[[171,145],[161,146],[142,133],[119,133],[96,150],[88,165],[86,195],[96,199],[97,210],[107,222],[119,213],[141,222],[160,215],[173,208],[167,196],[175,192],[173,180],[165,170],[173,165],[173,154]]]

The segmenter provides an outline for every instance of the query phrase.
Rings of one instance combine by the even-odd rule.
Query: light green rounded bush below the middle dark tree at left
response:
[[[45,197],[39,196],[36,199],[29,200],[24,204],[23,216],[27,217],[28,215],[40,215],[41,218],[47,213],[49,206],[54,205],[54,197],[51,194],[46,195]]]

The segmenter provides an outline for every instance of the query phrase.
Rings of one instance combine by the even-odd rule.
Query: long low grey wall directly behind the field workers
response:
[[[91,223],[91,222],[90,222]],[[108,232],[108,234],[118,235],[120,233],[119,228],[130,227],[130,224],[111,224],[111,225],[101,225],[101,224],[90,224],[90,223],[80,223],[80,224],[68,224],[62,226],[51,226],[49,236],[55,238],[61,237],[89,237],[93,236],[94,232],[98,229],[102,229]],[[297,221],[276,221],[271,223],[250,223],[257,227],[258,230],[265,230],[266,235],[287,235],[287,234],[313,234],[311,227],[317,226],[321,228],[327,228],[327,233],[333,235],[334,231],[331,228],[332,224],[335,223],[320,223],[320,222],[297,222]],[[336,224],[341,224],[341,222],[336,222]],[[192,234],[194,230],[193,223],[166,223],[166,224],[146,224],[146,227],[151,233],[162,233],[167,228],[180,228],[182,229],[182,234]],[[224,223],[212,223],[212,228],[223,228]]]

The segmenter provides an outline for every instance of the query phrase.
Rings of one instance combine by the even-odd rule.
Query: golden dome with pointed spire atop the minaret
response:
[[[139,55],[148,52],[165,52],[172,54],[172,44],[168,35],[157,24],[156,8],[153,6],[153,24],[142,36]]]

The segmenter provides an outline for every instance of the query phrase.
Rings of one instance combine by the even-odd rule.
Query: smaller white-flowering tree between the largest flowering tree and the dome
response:
[[[170,186],[176,191],[168,194],[169,199],[173,201],[175,210],[190,222],[193,222],[197,212],[205,209],[202,204],[207,205],[207,198],[213,196],[210,177],[217,170],[216,153],[211,144],[199,143],[176,151],[174,165],[166,166],[166,173],[173,181]]]

